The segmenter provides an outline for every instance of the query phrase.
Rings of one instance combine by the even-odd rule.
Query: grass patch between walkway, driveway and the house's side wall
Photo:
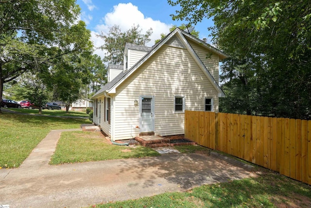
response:
[[[112,145],[100,132],[62,132],[51,164],[158,156],[157,151],[142,146]]]

